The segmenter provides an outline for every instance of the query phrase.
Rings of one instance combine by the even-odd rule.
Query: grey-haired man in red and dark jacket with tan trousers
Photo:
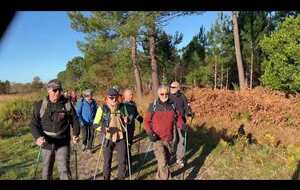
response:
[[[149,105],[145,115],[145,130],[154,144],[154,154],[158,163],[156,179],[169,179],[168,159],[173,147],[173,127],[185,130],[180,112],[169,99],[169,87],[160,86],[158,99]]]

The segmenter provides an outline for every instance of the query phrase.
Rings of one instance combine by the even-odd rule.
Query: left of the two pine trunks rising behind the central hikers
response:
[[[142,80],[140,71],[137,66],[136,61],[136,36],[130,36],[130,42],[131,42],[131,61],[133,65],[134,70],[134,77],[135,77],[135,83],[136,83],[136,92],[137,92],[137,98],[139,103],[142,101],[142,94],[143,94],[143,88],[142,88]]]

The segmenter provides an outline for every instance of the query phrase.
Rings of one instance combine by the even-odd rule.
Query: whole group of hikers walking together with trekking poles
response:
[[[57,79],[47,83],[47,91],[48,95],[34,104],[31,121],[32,135],[43,160],[42,179],[52,179],[54,162],[61,180],[72,179],[71,141],[79,145],[82,133],[82,151],[91,154],[96,132],[100,134],[99,153],[104,157],[104,180],[111,179],[114,150],[117,151],[117,179],[128,175],[131,178],[135,121],[140,125],[144,123],[153,146],[158,165],[155,179],[170,179],[172,160],[184,167],[187,117],[193,118],[194,113],[178,82],[159,86],[158,98],[150,103],[144,117],[139,114],[130,89],[122,92],[115,87],[108,89],[102,105],[97,105],[91,89],[84,90],[78,99],[74,92],[63,94],[62,84]]]

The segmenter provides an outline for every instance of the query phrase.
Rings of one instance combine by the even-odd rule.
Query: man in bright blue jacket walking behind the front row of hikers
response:
[[[80,99],[76,104],[76,112],[82,127],[82,150],[91,152],[94,140],[94,128],[92,127],[94,117],[97,111],[97,103],[93,99],[92,90],[83,91],[84,98]]]

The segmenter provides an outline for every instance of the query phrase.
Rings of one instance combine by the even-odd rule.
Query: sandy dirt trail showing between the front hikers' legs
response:
[[[138,145],[138,141],[140,141],[140,145]],[[155,179],[155,172],[157,168],[157,162],[154,158],[154,153],[152,150],[152,146],[145,136],[145,133],[141,133],[140,135],[136,135],[134,145],[132,147],[132,179],[136,180],[149,180]],[[96,140],[95,144],[98,144],[98,140]],[[140,146],[140,153],[138,153],[138,146]],[[150,146],[150,147],[149,147]],[[149,150],[150,149],[150,150]],[[149,150],[149,151],[148,151]],[[78,179],[79,180],[93,180],[95,167],[97,158],[99,155],[100,146],[96,146],[94,148],[93,153],[89,154],[87,152],[83,152],[78,147],[77,157],[78,157]],[[148,152],[146,159],[145,154]],[[75,159],[74,152],[71,152],[71,171],[72,176],[75,177]],[[117,160],[116,160],[116,152],[113,155],[113,163],[112,163],[112,176],[111,179],[115,179],[117,177]],[[172,179],[182,179],[182,173],[174,172],[180,168],[174,163],[171,165],[170,170],[175,174]],[[140,171],[141,170],[141,171]],[[100,164],[98,166],[98,172],[96,175],[96,180],[103,180],[103,154],[101,153]],[[187,174],[187,172],[185,173]],[[126,178],[129,180],[129,177]]]

